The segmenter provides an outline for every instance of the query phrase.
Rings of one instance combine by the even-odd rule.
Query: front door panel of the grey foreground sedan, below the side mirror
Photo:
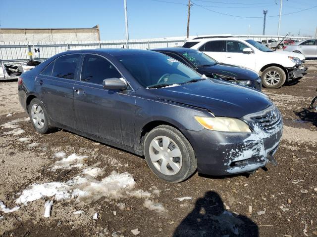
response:
[[[90,55],[85,55],[89,57]],[[96,55],[92,56],[96,58]],[[106,59],[104,59],[106,60]],[[83,62],[82,77],[87,60]],[[97,63],[92,65],[96,66]],[[94,67],[92,66],[92,67]],[[105,67],[103,67],[105,69]],[[99,70],[96,67],[96,70]],[[106,72],[105,72],[106,73]],[[99,81],[106,79],[105,75]],[[111,76],[113,77],[113,76]],[[88,76],[97,82],[96,74]],[[74,86],[76,129],[116,143],[132,146],[135,95],[132,90],[105,89],[101,83],[76,81]]]

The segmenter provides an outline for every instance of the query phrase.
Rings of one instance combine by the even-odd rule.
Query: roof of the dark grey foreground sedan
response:
[[[62,54],[73,54],[73,53],[100,53],[109,54],[111,56],[122,56],[122,55],[135,55],[135,54],[154,54],[156,52],[145,50],[145,49],[129,49],[129,48],[89,48],[79,50],[68,50]]]

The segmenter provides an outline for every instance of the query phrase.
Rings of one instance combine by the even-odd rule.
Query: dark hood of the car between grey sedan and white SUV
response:
[[[199,67],[198,72],[200,74],[205,74],[206,76],[219,74],[238,80],[256,80],[259,78],[259,74],[250,69],[224,63],[215,64],[209,67]]]

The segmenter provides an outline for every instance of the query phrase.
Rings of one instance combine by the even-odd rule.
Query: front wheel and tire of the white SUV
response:
[[[261,78],[265,88],[276,89],[285,83],[286,74],[279,67],[268,67],[263,71]]]

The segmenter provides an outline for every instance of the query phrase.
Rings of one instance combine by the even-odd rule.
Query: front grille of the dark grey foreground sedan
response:
[[[265,115],[252,118],[264,131],[273,131],[281,122],[282,116],[277,108],[268,111]]]

